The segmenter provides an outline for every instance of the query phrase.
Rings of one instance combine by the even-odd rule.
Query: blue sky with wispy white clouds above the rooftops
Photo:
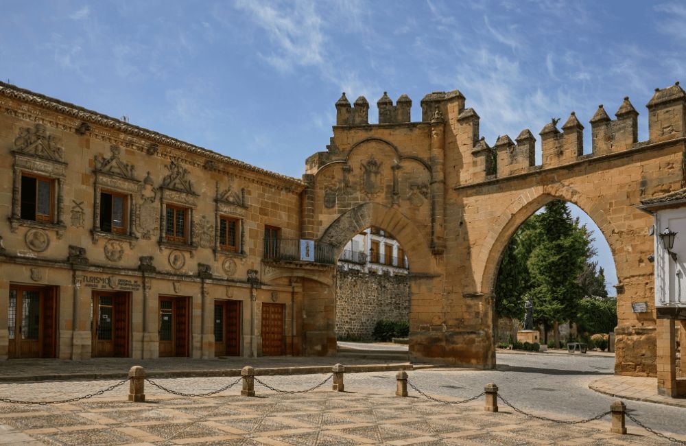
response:
[[[6,1],[0,78],[299,177],[346,91],[375,104],[459,89],[499,134],[684,79],[686,3]],[[539,154],[540,159],[540,154]],[[602,237],[597,237],[602,238]],[[604,242],[604,241],[603,241]],[[602,245],[602,243],[599,243]],[[608,249],[599,246],[608,281]]]

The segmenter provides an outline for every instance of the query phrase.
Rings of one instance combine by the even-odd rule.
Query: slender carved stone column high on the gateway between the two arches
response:
[[[431,118],[431,251],[445,250],[445,151],[443,116],[436,110]]]

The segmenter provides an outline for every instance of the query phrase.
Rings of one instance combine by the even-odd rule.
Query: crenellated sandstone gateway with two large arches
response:
[[[410,261],[410,354],[495,366],[493,288],[514,231],[547,202],[560,199],[598,224],[617,268],[616,373],[656,373],[652,219],[641,200],[681,189],[685,181],[686,94],[678,82],[648,102],[648,141],[638,141],[639,113],[628,97],[611,119],[600,105],[591,119],[593,148],[584,154],[584,126],[571,112],[561,126],[523,129],[490,147],[480,117],[460,91],[434,92],[396,104],[383,94],[379,124],[368,123],[364,97],[336,102],[326,152],[307,160],[302,235],[336,252],[358,231],[394,234]],[[635,313],[632,303],[648,303]]]

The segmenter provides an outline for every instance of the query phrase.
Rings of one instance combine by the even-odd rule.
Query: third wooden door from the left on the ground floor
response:
[[[160,296],[160,357],[188,356],[189,301],[187,296]]]

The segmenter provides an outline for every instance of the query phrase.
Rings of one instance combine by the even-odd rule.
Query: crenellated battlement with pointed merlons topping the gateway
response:
[[[447,182],[457,184],[480,183],[490,178],[501,178],[529,172],[534,168],[556,167],[573,163],[584,156],[584,126],[576,113],[571,112],[567,120],[558,127],[559,119],[552,119],[539,132],[541,139],[542,165],[535,164],[536,138],[529,129],[522,130],[517,138],[512,140],[508,135],[497,138],[491,147],[480,135],[480,117],[473,108],[465,108],[466,99],[458,90],[434,91],[421,99],[421,122],[412,123],[410,109],[412,100],[407,95],[401,95],[395,104],[386,91],[377,101],[379,110],[379,126],[385,124],[407,124],[407,129],[416,128],[418,124],[431,125],[435,129],[434,116],[438,113],[442,117],[443,139],[445,141],[445,161],[452,169],[447,172]],[[678,82],[666,89],[655,89],[654,95],[646,105],[648,108],[648,128],[650,143],[665,141],[684,136],[686,129],[686,92]],[[368,120],[369,103],[364,96],[355,100],[351,106],[345,93],[336,102],[336,125],[351,127],[349,131],[375,131]],[[615,119],[611,119],[604,106],[598,106],[591,124],[590,155],[602,156],[628,150],[638,141],[639,113],[631,104],[628,97],[624,97]],[[359,126],[360,130],[354,128]],[[383,132],[403,132],[401,128],[387,128]],[[348,132],[348,130],[342,130]],[[436,130],[432,130],[435,132]],[[336,134],[336,132],[335,132]],[[367,134],[367,133],[365,133]],[[354,137],[353,139],[356,139]],[[338,147],[335,146],[336,137],[332,145],[327,146],[327,152],[320,152],[308,160],[308,172],[316,171],[317,167],[335,158]],[[352,141],[352,140],[351,140]],[[349,147],[349,142],[343,143],[342,150]],[[429,141],[427,141],[429,143]],[[420,148],[409,148],[417,151]],[[454,175],[454,178],[452,176]]]

